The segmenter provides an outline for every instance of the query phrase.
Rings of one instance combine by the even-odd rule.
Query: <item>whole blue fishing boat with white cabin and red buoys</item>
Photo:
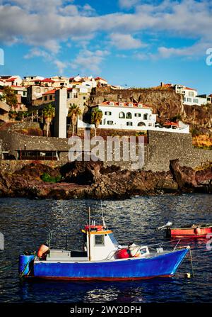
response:
[[[147,245],[119,245],[105,221],[102,226],[89,222],[82,234],[82,250],[41,245],[37,254],[20,255],[20,276],[76,281],[172,277],[190,252],[189,246],[163,250],[160,245],[152,251]]]

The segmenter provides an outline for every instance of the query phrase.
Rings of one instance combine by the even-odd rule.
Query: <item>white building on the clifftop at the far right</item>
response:
[[[175,91],[177,94],[183,95],[183,104],[187,104],[189,106],[192,105],[204,105],[208,104],[210,100],[207,98],[207,96],[199,96],[196,89],[192,89],[189,87],[185,87],[183,85],[176,84],[175,85]]]

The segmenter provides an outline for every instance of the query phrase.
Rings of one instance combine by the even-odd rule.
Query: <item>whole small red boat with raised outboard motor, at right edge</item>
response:
[[[181,228],[171,228],[172,223],[157,228],[157,230],[165,230],[167,237],[173,238],[206,238],[208,233],[212,233],[212,224],[197,224],[192,226],[183,226]]]

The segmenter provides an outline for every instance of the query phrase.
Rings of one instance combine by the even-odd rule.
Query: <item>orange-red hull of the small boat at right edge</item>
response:
[[[171,237],[190,237],[190,238],[206,238],[208,233],[212,233],[212,227],[208,228],[198,228],[198,232],[196,228],[168,228],[167,236]]]

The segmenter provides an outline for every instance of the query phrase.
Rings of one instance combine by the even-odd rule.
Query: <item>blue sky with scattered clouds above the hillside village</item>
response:
[[[0,74],[172,82],[212,94],[211,0],[0,0]]]

